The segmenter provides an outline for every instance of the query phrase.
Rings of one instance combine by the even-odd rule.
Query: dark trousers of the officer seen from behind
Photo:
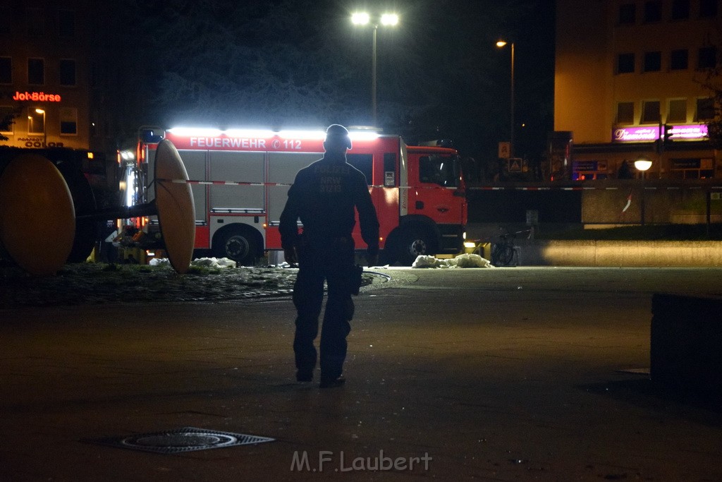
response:
[[[301,244],[297,247],[298,275],[293,287],[296,306],[296,332],[293,340],[296,369],[312,374],[316,368],[318,317],[323,304],[323,282],[329,288],[326,311],[321,326],[321,378],[336,379],[342,374],[346,359],[346,337],[353,317],[351,270],[354,265],[352,239],[329,241],[323,246]]]

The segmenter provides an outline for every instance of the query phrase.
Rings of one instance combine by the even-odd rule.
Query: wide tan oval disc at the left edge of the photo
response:
[[[0,244],[32,275],[54,275],[73,247],[75,210],[62,174],[38,154],[21,154],[0,174]]]

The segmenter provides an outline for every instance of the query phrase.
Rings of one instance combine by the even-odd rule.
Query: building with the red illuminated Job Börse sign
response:
[[[88,0],[0,1],[0,145],[95,148],[92,18]]]

